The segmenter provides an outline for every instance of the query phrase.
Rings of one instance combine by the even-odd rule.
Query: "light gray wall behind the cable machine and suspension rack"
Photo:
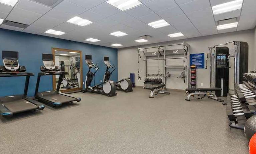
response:
[[[152,47],[156,45],[170,45],[182,43],[183,41],[187,42],[190,45],[190,53],[208,53],[208,47],[216,44],[222,44],[229,41],[244,41],[249,44],[249,70],[255,70],[255,51],[256,48],[256,30],[245,30],[224,34],[216,34],[211,36],[203,36],[191,39],[162,42],[157,44],[135,46],[118,49],[118,79],[122,79],[129,76],[129,73],[135,73],[136,85],[143,86],[144,77],[145,77],[145,61],[143,58],[140,59],[140,75],[142,80],[138,81],[138,52],[137,48]],[[233,45],[227,45],[230,51],[233,50]],[[180,47],[178,47],[180,48]],[[143,55],[143,54],[142,54]],[[206,55],[206,54],[205,54]],[[205,56],[206,58],[206,56]],[[232,66],[233,59],[230,60],[230,65]],[[207,65],[209,67],[209,63]],[[233,88],[233,68],[230,69],[230,89]],[[202,83],[202,86],[201,86]],[[198,87],[210,87],[210,69],[198,69],[197,70],[197,86]],[[182,79],[177,79],[175,77],[168,78],[166,81],[166,87],[171,89],[185,89],[186,84],[183,83]]]

